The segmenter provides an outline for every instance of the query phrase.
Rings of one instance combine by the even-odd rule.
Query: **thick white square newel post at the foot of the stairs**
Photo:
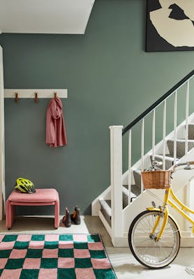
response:
[[[123,234],[122,200],[122,129],[123,126],[110,126],[110,165],[111,165],[111,227],[112,243]]]

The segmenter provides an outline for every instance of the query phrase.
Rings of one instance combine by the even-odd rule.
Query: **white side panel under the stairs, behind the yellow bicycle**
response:
[[[194,148],[185,156],[183,156],[179,163],[192,161],[194,158]],[[184,170],[180,169],[179,171],[175,172],[173,174],[172,179],[172,187],[174,190],[174,193],[176,195],[179,193],[181,188],[184,188],[188,184],[188,182],[193,179],[194,177],[194,169],[191,170]],[[163,200],[163,194],[164,190],[154,190],[151,189],[151,193],[154,193],[158,197],[158,199]],[[135,216],[137,216],[138,213],[146,210],[147,207],[151,206],[151,202],[154,201],[156,203],[156,206],[160,205],[162,202],[158,199],[154,199],[153,196],[149,194],[149,190],[145,190],[144,193],[139,195],[132,203],[130,203],[123,211],[123,232],[124,236],[117,239],[115,246],[116,247],[128,247],[128,229],[130,227],[130,223],[132,223]],[[170,209],[170,214],[174,216],[174,218],[177,220],[177,223],[179,224],[179,227],[181,223],[179,223],[179,217],[180,215],[175,214],[174,209]],[[133,214],[131,214],[133,213]],[[184,223],[180,227],[181,229],[181,246],[183,247],[194,247],[194,236],[192,234],[192,229],[190,231],[185,230],[186,226]]]

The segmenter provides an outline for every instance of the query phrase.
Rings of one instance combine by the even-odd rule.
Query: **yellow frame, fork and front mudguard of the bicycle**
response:
[[[170,197],[172,197],[172,199],[174,199],[175,202],[177,202],[177,204],[179,206],[181,206],[181,208],[179,208],[177,206],[177,204],[174,204],[174,202],[172,202],[172,200],[170,200]],[[192,209],[190,209],[188,206],[186,206],[185,204],[183,204],[179,199],[178,197],[174,194],[173,190],[172,190],[172,187],[170,186],[170,188],[167,188],[165,190],[165,196],[164,196],[164,199],[163,199],[163,206],[159,206],[159,209],[156,209],[154,207],[149,207],[147,208],[149,211],[160,211],[161,213],[163,213],[163,217],[164,217],[164,220],[163,220],[163,225],[161,227],[161,232],[158,234],[158,237],[156,239],[156,241],[158,241],[159,239],[161,239],[162,235],[163,235],[163,232],[165,230],[165,226],[167,225],[167,218],[169,216],[169,211],[168,211],[168,208],[167,208],[167,204],[170,204],[170,206],[172,206],[176,211],[178,211],[181,216],[184,216],[184,218],[186,218],[186,220],[188,220],[192,225],[193,225],[193,234],[194,234],[194,220],[188,216],[188,214],[186,214],[184,211],[187,211],[189,213],[193,213],[194,214],[194,211]],[[156,227],[158,227],[158,223],[161,219],[161,216],[158,216],[157,220],[156,220],[156,223],[154,225],[154,228],[152,229],[152,232],[151,234],[154,234],[155,230],[156,230]]]

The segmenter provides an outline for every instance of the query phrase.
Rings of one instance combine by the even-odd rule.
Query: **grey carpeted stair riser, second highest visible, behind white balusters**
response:
[[[167,140],[167,147],[171,156],[174,154],[174,140]],[[188,140],[188,151],[193,149],[194,140]],[[177,140],[177,156],[183,157],[185,155],[185,140]]]

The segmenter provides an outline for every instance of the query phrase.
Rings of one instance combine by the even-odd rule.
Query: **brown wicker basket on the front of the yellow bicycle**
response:
[[[156,170],[142,172],[144,189],[167,189],[170,188],[170,170]]]

